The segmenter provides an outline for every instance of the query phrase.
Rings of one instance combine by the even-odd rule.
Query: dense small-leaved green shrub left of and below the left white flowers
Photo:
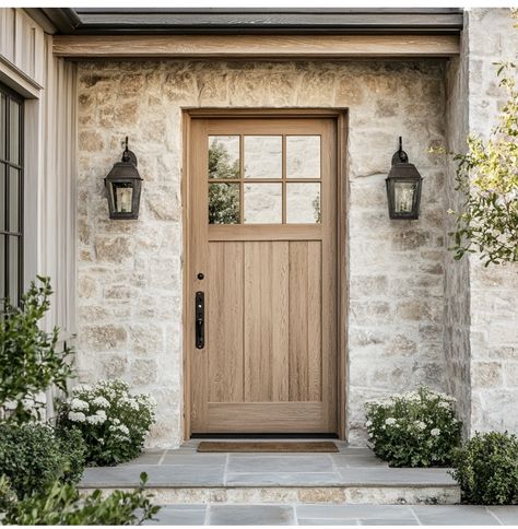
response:
[[[0,424],[0,474],[17,496],[42,492],[56,480],[78,482],[84,468],[81,433],[58,436],[48,425]]]

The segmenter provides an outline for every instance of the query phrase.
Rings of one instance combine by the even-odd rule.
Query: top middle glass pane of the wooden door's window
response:
[[[282,136],[245,136],[245,178],[282,178]]]

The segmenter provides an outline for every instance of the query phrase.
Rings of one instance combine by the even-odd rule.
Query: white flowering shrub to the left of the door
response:
[[[136,458],[154,423],[153,399],[132,396],[121,380],[78,386],[60,404],[58,426],[76,427],[87,447],[90,465],[111,466]]]

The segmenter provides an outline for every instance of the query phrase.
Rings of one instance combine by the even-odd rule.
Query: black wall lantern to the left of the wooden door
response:
[[[138,219],[142,178],[137,171],[137,156],[128,150],[128,137],[122,161],[117,162],[104,179],[108,193],[110,219]]]

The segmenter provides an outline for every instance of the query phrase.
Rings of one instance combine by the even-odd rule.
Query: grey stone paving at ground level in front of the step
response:
[[[518,506],[197,504],[165,506],[157,517],[146,525],[497,526],[516,524]]]

